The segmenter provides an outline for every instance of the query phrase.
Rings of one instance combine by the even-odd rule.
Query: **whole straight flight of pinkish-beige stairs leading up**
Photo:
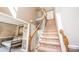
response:
[[[47,20],[45,30],[41,33],[36,50],[38,52],[61,52],[55,20]]]

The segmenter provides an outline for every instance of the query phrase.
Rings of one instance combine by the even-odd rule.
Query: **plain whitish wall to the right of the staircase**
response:
[[[79,7],[56,8],[61,14],[61,21],[65,34],[69,38],[69,44],[79,45]]]

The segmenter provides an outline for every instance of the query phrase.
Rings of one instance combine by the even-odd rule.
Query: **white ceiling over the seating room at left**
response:
[[[9,16],[1,12],[0,12],[0,22],[14,24],[14,25],[22,25],[25,23],[23,20],[15,19],[12,16]]]

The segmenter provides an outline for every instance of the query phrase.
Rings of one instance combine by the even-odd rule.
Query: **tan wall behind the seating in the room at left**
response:
[[[15,31],[15,25],[0,23],[0,37],[14,36]]]

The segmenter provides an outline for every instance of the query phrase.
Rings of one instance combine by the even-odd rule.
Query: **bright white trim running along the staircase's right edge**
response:
[[[55,15],[56,15],[56,22],[58,27],[58,34],[59,34],[61,49],[62,49],[62,52],[66,52],[66,47],[64,45],[62,35],[60,34],[60,29],[63,29],[62,22],[61,22],[61,14],[58,12],[55,12]]]

